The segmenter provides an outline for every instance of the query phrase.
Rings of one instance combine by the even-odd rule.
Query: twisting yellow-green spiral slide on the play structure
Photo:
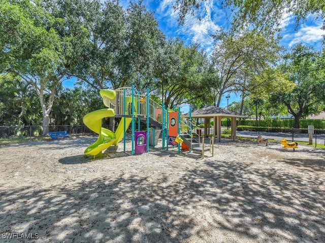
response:
[[[113,90],[105,90],[105,91],[106,94],[104,94],[104,96],[108,96],[108,98],[110,99],[115,97],[115,92]],[[91,144],[88,148],[86,148],[84,154],[98,155],[102,153],[103,150],[110,147],[112,144],[117,145],[119,141],[121,141],[121,139],[124,137],[124,118],[121,118],[121,121],[118,124],[115,133],[108,129],[102,128],[102,119],[104,117],[112,117],[112,116],[115,116],[115,112],[113,109],[100,109],[100,110],[92,111],[83,117],[83,123],[91,131],[99,134],[98,139],[93,144]],[[128,128],[131,121],[132,118],[125,118],[125,130]]]

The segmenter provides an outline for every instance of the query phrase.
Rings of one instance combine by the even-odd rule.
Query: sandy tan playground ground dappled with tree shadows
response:
[[[95,140],[0,146],[0,242],[325,242],[323,149],[239,140],[194,159],[127,141],[93,159]]]

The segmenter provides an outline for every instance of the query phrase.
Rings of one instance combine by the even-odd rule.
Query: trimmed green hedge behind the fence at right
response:
[[[227,121],[222,120],[222,126],[226,126]],[[256,127],[256,120],[241,120],[241,126]],[[325,129],[324,119],[300,119],[299,128],[308,129],[308,126],[314,126],[314,129]],[[261,120],[259,127],[273,127],[273,128],[293,128],[295,127],[294,119],[272,119],[272,120]]]

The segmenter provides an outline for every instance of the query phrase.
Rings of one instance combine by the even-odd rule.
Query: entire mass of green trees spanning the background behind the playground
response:
[[[175,8],[182,19],[204,2],[176,0]],[[90,98],[98,90],[134,85],[169,107],[220,106],[225,94],[236,93],[239,113],[257,121],[285,106],[299,126],[300,117],[324,109],[324,53],[297,45],[281,56],[274,31],[284,13],[324,19],[324,4],[312,3],[225,0],[233,28],[215,33],[208,56],[200,43],[167,39],[142,1],[124,9],[117,0],[0,0],[0,86],[7,89],[0,95],[8,97],[0,99],[1,125],[34,125],[41,117],[44,134],[50,124],[77,125],[89,111],[84,106],[100,108]],[[72,76],[80,86],[64,89]]]

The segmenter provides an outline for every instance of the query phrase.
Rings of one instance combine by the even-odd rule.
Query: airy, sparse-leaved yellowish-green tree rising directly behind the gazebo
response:
[[[276,61],[280,48],[273,37],[265,38],[256,31],[220,31],[215,38],[210,78],[214,79],[214,105],[219,106],[224,94],[247,92],[253,77]]]

